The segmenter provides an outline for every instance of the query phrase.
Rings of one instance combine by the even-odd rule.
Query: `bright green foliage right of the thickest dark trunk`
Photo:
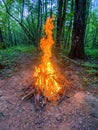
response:
[[[98,47],[98,14],[97,14],[98,7],[89,12],[87,26],[86,26],[86,37],[85,37],[85,47],[89,47],[87,49],[87,54],[92,57],[97,56],[97,48]],[[91,52],[92,51],[92,52]]]

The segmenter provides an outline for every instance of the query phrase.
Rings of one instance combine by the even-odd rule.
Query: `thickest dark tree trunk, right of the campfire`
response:
[[[69,53],[70,58],[85,58],[86,2],[87,0],[75,0],[72,46]]]

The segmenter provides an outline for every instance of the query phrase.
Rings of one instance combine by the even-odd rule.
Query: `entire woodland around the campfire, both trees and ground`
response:
[[[51,62],[69,89],[37,109],[37,97],[22,97],[31,91],[49,17]],[[0,130],[38,129],[98,130],[97,0],[0,0]]]

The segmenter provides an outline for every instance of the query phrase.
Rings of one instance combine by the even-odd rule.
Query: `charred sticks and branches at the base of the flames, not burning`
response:
[[[69,89],[70,89],[69,86],[63,87],[62,92],[58,93],[59,96],[58,96],[58,99],[56,100],[56,102],[58,102],[58,103],[62,102],[63,99],[65,97],[67,97],[66,93]],[[48,98],[45,97],[44,94],[40,90],[38,90],[37,86],[34,87],[33,82],[30,83],[24,89],[22,89],[21,97],[22,97],[22,101],[27,101],[27,100],[33,99],[35,110],[40,110],[40,109],[44,108],[45,105],[50,102],[50,100],[48,100]]]

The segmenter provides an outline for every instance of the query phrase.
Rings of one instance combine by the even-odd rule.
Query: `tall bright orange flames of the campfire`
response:
[[[57,72],[51,62],[53,40],[53,17],[47,18],[44,25],[46,35],[40,40],[40,48],[43,50],[41,63],[35,67],[33,77],[35,78],[35,86],[38,91],[42,92],[48,100],[57,100],[62,91],[62,76]]]

